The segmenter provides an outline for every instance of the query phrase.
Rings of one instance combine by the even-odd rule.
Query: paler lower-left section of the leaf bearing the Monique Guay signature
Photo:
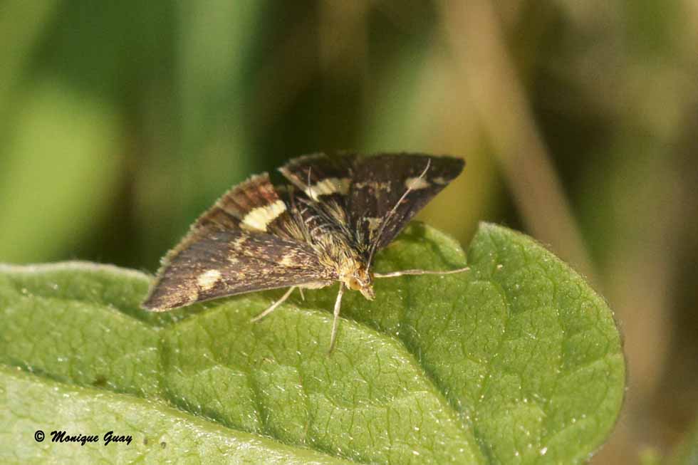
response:
[[[1,394],[7,399],[0,419],[4,425],[0,459],[4,464],[27,461],[52,463],[187,463],[216,457],[230,464],[344,464],[316,451],[279,444],[274,439],[231,431],[153,402],[130,395],[71,386],[39,379],[21,370],[0,367]],[[34,430],[46,435],[34,442]],[[51,431],[98,434],[99,444],[52,444]],[[105,444],[104,435],[131,436],[130,444]],[[9,447],[12,442],[13,447]],[[105,446],[103,446],[105,445]]]

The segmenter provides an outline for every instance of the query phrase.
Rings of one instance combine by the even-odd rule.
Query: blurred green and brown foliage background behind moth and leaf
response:
[[[5,0],[0,261],[154,271],[231,184],[316,150],[462,155],[420,216],[582,271],[622,322],[623,418],[593,463],[698,409],[693,0]]]

